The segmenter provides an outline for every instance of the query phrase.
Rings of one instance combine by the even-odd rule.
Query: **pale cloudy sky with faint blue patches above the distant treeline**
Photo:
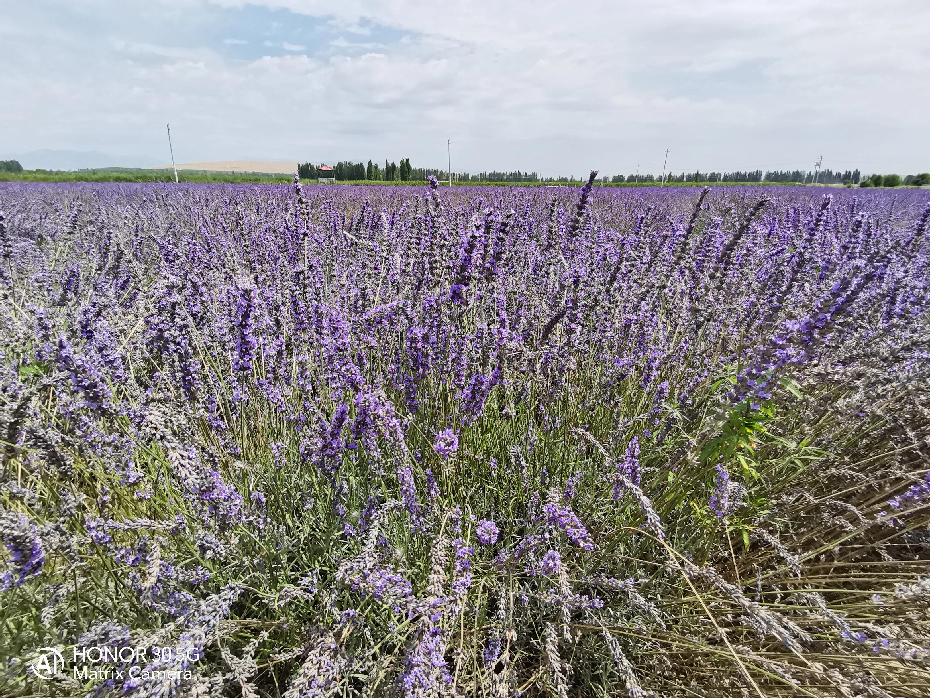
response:
[[[0,154],[930,169],[926,0],[0,2]],[[145,164],[152,164],[146,162]]]

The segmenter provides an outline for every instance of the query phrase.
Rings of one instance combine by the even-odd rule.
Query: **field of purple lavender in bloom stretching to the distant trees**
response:
[[[926,191],[0,212],[0,694],[928,695]]]

